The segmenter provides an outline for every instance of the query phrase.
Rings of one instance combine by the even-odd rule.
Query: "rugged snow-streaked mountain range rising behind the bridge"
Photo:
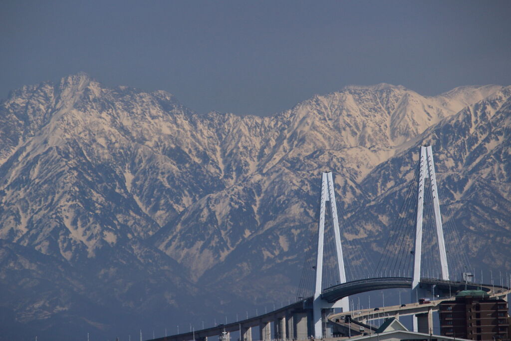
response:
[[[469,255],[511,269],[510,133],[511,86],[348,86],[271,117],[83,73],[24,86],[0,104],[0,328],[113,335],[289,298],[320,172],[378,252],[426,143]]]

